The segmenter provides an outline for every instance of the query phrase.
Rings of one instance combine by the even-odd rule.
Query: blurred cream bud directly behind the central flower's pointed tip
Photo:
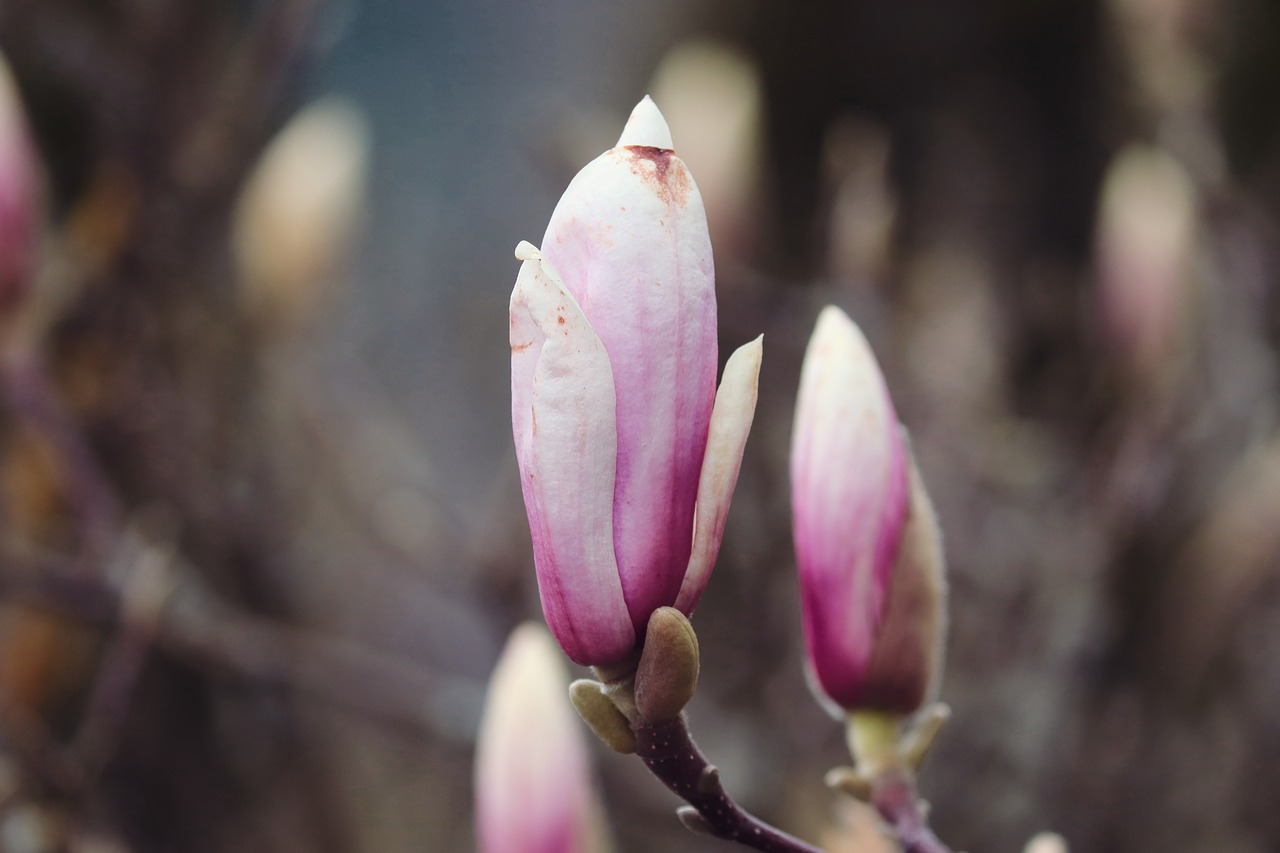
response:
[[[673,47],[650,86],[680,134],[680,154],[698,173],[721,259],[754,245],[760,188],[760,76],[740,51],[713,41]]]

